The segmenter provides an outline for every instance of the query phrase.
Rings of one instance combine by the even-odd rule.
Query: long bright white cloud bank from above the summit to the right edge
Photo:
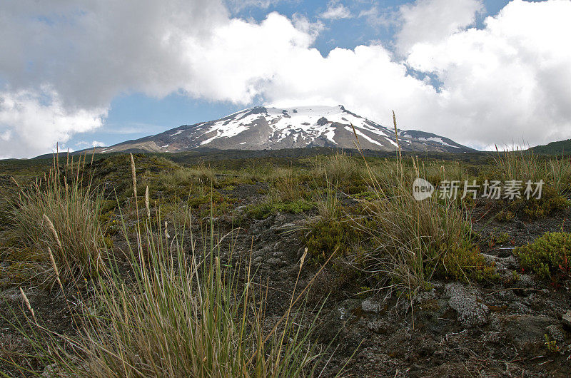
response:
[[[336,48],[325,58],[295,51],[264,94],[280,105],[343,103],[388,125],[394,108],[403,128],[476,148],[570,138],[570,18],[571,1],[515,0],[482,29],[454,27],[406,45],[402,61],[374,45]]]

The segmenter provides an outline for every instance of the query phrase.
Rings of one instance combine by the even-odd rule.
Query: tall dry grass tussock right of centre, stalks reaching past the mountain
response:
[[[400,154],[384,168],[366,166],[374,195],[360,200],[362,213],[351,217],[352,227],[370,241],[369,250],[357,256],[361,269],[391,287],[405,287],[411,295],[437,275],[469,280],[487,269],[470,241],[470,217],[460,200],[436,194],[414,198],[413,181],[434,176],[434,168],[415,158],[405,163]],[[444,169],[437,172],[446,177]],[[462,172],[458,168],[452,174]]]

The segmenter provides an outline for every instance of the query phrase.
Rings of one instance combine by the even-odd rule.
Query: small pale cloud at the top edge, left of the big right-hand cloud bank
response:
[[[398,51],[420,42],[435,42],[475,22],[482,0],[416,0],[400,6],[402,28],[396,36]]]

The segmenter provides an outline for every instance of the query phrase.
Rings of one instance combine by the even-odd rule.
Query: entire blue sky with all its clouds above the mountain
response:
[[[474,148],[571,138],[571,0],[0,3],[0,158],[336,105]]]

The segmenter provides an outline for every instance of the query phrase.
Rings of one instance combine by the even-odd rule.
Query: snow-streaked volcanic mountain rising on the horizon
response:
[[[353,130],[354,128],[354,130]],[[343,106],[249,108],[216,121],[173,128],[156,136],[127,141],[98,152],[147,150],[179,152],[193,148],[221,150],[277,150],[281,148],[333,147],[393,151],[398,148],[394,128],[351,113]],[[472,149],[432,133],[399,130],[404,151],[465,152]]]

